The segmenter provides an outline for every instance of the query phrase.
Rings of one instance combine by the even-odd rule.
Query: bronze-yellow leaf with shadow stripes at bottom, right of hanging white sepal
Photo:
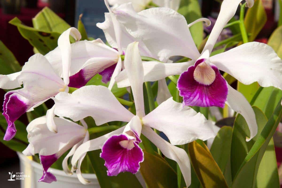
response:
[[[193,141],[189,143],[188,150],[191,164],[195,169],[202,187],[228,188],[224,176],[209,149],[203,141],[198,141],[201,142],[201,145],[197,141]]]

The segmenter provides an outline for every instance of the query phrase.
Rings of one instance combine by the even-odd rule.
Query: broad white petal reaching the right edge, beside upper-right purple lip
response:
[[[264,44],[251,42],[210,57],[211,63],[241,83],[282,89],[282,60]]]

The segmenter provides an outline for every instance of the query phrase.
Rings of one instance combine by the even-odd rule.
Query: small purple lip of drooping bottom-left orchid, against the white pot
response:
[[[57,179],[54,176],[54,174],[47,172],[47,170],[50,168],[50,166],[58,160],[58,157],[56,154],[53,155],[40,155],[39,156],[42,167],[43,167],[43,175],[38,180],[38,182],[46,182],[46,183],[52,183],[56,182]]]

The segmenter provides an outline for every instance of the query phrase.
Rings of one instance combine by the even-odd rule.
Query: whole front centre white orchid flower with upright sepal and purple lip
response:
[[[136,115],[122,106],[110,90],[103,86],[85,86],[72,94],[61,92],[54,98],[54,113],[73,121],[92,116],[97,125],[110,121],[129,122],[125,127],[78,147],[72,157],[72,165],[75,166],[87,151],[102,148],[101,157],[105,160],[109,176],[115,176],[124,171],[136,173],[140,168],[139,163],[144,160],[143,152],[138,146],[142,133],[164,155],[179,164],[186,184],[190,185],[189,158],[184,150],[173,145],[214,137],[211,121],[206,120],[201,113],[195,112],[190,107],[182,108],[182,104],[173,101],[172,98],[145,115],[142,86],[144,71],[137,42],[127,47],[124,66],[131,83]],[[164,132],[172,145],[160,138],[151,128]],[[117,160],[121,155],[123,160]],[[87,180],[81,182],[88,183]]]

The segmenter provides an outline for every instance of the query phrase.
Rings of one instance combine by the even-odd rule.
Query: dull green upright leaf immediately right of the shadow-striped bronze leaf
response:
[[[224,174],[228,185],[231,185],[230,151],[231,151],[232,128],[222,127],[214,138],[210,152]]]

